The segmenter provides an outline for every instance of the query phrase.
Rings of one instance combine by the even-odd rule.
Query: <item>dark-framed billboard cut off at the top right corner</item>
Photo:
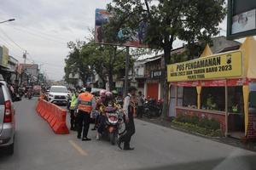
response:
[[[227,24],[229,39],[256,35],[256,1],[229,0]]]

